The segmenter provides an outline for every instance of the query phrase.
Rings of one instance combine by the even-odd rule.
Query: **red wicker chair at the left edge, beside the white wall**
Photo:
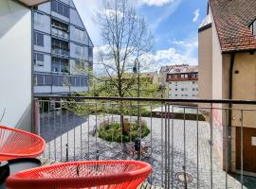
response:
[[[46,142],[30,132],[0,126],[0,162],[35,158],[44,152]]]

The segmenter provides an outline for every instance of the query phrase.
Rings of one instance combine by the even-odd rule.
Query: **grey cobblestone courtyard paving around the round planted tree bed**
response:
[[[135,117],[127,117],[134,121]],[[97,135],[93,136],[95,126],[107,119],[119,119],[118,115],[90,115],[82,118],[72,114],[47,115],[41,118],[41,135],[46,139],[45,157],[53,160],[68,158],[73,160],[96,160],[96,159],[137,159],[129,150],[133,144],[109,143],[101,140]],[[143,142],[145,146],[152,146],[151,150],[144,153],[142,161],[153,165],[153,173],[149,182],[161,186],[165,180],[166,156],[164,153],[165,121],[160,118],[142,118],[148,123],[151,134]],[[185,127],[184,127],[185,124]],[[185,128],[185,131],[184,131]],[[174,130],[174,133],[172,133]],[[185,144],[184,144],[185,134]],[[172,145],[172,136],[174,144]],[[188,188],[210,188],[210,126],[208,122],[170,120],[170,184],[174,188],[184,188],[185,183],[178,181],[178,174],[184,172],[188,178]],[[66,144],[68,144],[68,156],[66,156]],[[198,145],[198,158],[197,158]],[[184,146],[186,153],[184,154]],[[172,150],[173,149],[173,150]],[[197,163],[198,161],[198,163]],[[241,188],[238,180],[235,180],[222,170],[218,158],[212,150],[212,186],[213,188]],[[168,170],[168,169],[167,169]],[[168,173],[167,173],[168,174]],[[226,179],[227,178],[227,179]],[[244,187],[247,188],[247,187]],[[248,187],[253,188],[253,187]]]

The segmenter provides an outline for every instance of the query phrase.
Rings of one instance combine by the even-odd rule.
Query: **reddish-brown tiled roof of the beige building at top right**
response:
[[[249,25],[256,18],[256,0],[210,0],[223,52],[256,49]]]

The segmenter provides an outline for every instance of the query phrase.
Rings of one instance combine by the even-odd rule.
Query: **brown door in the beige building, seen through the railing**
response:
[[[243,129],[244,171],[256,173],[256,129]],[[241,128],[236,128],[236,168],[241,169]]]

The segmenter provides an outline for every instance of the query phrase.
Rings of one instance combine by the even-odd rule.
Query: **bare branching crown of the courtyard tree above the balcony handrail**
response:
[[[137,14],[131,0],[106,0],[103,12],[98,12],[96,22],[101,27],[105,50],[99,52],[106,77],[98,78],[108,82],[116,95],[123,97],[136,85],[136,75],[130,75],[136,60],[148,53],[154,38],[148,31],[145,20]]]

